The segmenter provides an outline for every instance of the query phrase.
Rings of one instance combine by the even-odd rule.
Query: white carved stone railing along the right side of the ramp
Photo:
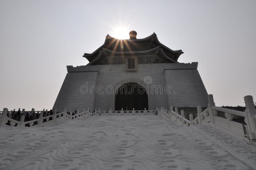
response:
[[[208,95],[208,107],[202,112],[202,107],[197,106],[197,117],[194,119],[193,114],[189,114],[189,120],[184,116],[184,111],[181,110],[181,114],[178,113],[178,108],[170,107],[170,111],[161,107],[157,108],[158,115],[164,119],[172,119],[180,126],[190,126],[190,125],[211,125],[219,128],[221,131],[234,135],[238,138],[255,142],[256,134],[256,109],[253,102],[252,96],[244,97],[245,112],[236,111],[232,109],[222,108],[215,106],[213,96]],[[219,117],[217,112],[224,112],[225,118]],[[233,121],[234,116],[244,117],[245,124]]]

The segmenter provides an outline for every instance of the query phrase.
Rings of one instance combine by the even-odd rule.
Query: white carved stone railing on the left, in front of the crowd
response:
[[[45,117],[43,117],[44,110],[37,111],[37,113],[39,113],[38,119],[24,121],[25,120],[25,116],[24,116],[25,109],[22,109],[22,112],[21,112],[22,115],[21,115],[20,121],[17,121],[17,120],[7,117],[8,109],[4,108],[4,110],[2,111],[2,114],[0,115],[0,127],[5,127],[5,126],[43,127],[43,126],[50,126],[56,122],[62,122],[62,121],[66,121],[66,120],[72,120],[72,119],[80,120],[82,118],[90,117],[93,115],[98,115],[98,113],[99,113],[99,111],[97,111],[96,109],[95,109],[95,112],[90,112],[89,108],[87,111],[84,111],[84,110],[81,113],[79,113],[79,110],[78,110],[75,115],[69,115],[67,113],[66,108],[64,108],[64,111],[60,112],[60,113],[57,113],[56,109],[54,109],[52,115],[45,116]],[[34,113],[34,112],[35,112],[35,110],[32,108],[30,113]],[[47,110],[46,110],[46,112],[47,112]],[[11,113],[12,113],[12,111],[11,111]],[[10,125],[7,125],[8,122]]]

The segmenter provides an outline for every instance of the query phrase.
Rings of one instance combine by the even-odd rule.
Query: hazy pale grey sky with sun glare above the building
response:
[[[256,99],[256,1],[0,0],[0,110],[51,109],[67,73],[107,34],[153,32],[179,62],[198,62],[215,104]],[[118,27],[127,30],[117,33]],[[255,100],[254,100],[255,101]]]

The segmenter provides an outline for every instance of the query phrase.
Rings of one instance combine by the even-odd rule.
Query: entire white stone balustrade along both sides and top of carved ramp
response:
[[[42,127],[42,126],[48,126],[51,124],[54,124],[55,122],[61,122],[61,121],[66,121],[66,120],[80,120],[82,118],[89,118],[94,115],[117,115],[117,114],[129,114],[129,115],[135,115],[135,114],[155,114],[156,112],[158,113],[159,116],[163,117],[164,119],[171,119],[174,122],[176,122],[180,126],[191,126],[191,125],[212,125],[215,126],[216,128],[220,128],[222,131],[230,134],[230,135],[235,135],[240,138],[244,138],[246,136],[248,141],[255,141],[255,135],[256,135],[256,109],[255,105],[253,102],[252,96],[245,96],[244,97],[244,102],[245,102],[245,107],[246,110],[245,112],[241,111],[236,111],[236,110],[231,110],[227,108],[222,108],[222,107],[217,107],[215,106],[213,96],[210,94],[208,95],[208,107],[204,109],[202,112],[202,107],[197,106],[197,117],[194,118],[193,114],[189,114],[189,120],[185,118],[184,111],[181,110],[181,114],[178,112],[178,108],[173,106],[170,106],[170,110],[168,111],[167,108],[160,107],[156,108],[156,110],[135,110],[134,108],[132,110],[127,110],[124,111],[123,108],[121,110],[113,110],[112,108],[108,110],[100,110],[100,108],[95,109],[94,112],[90,112],[90,108],[88,108],[87,111],[85,109],[82,110],[82,112],[79,112],[77,110],[75,115],[70,115],[67,113],[67,108],[64,108],[63,112],[57,113],[57,110],[53,108],[53,114],[49,116],[44,117],[44,112],[46,111],[35,111],[34,108],[31,109],[31,111],[25,111],[25,109],[22,109],[21,112],[22,116],[20,117],[20,121],[13,120],[12,117],[12,112],[15,112],[15,109],[13,111],[8,112],[7,108],[4,108],[3,111],[0,112],[0,127],[5,127],[5,126],[37,126],[37,127]],[[175,111],[173,111],[173,109]],[[29,115],[32,115],[33,113],[39,114],[39,118],[35,120],[29,120],[25,121],[25,116],[24,114],[28,113]],[[224,112],[224,115],[226,117],[222,118],[217,116],[218,112]],[[7,117],[7,113],[9,114],[9,117]],[[233,118],[235,116],[240,116],[244,117],[244,122],[246,125],[244,125],[245,128],[245,134],[244,134],[244,129],[241,123],[237,123],[233,121]],[[9,123],[8,123],[9,122]],[[8,125],[6,125],[8,123]]]

